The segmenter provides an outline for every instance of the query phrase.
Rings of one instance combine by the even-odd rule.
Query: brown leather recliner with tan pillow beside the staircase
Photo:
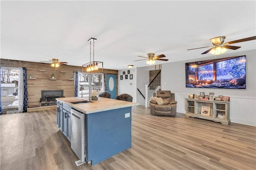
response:
[[[156,97],[150,100],[150,114],[176,116],[177,102],[170,90],[158,90]]]

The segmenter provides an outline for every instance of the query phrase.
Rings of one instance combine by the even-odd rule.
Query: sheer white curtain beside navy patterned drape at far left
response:
[[[22,67],[19,67],[19,86],[18,86],[19,113],[23,112],[23,100],[24,100],[23,69]]]

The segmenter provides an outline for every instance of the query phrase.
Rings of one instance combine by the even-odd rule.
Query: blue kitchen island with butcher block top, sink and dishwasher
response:
[[[64,134],[81,162],[95,165],[131,148],[132,106],[137,105],[102,97],[91,102],[88,98],[58,98],[57,125],[66,129]]]

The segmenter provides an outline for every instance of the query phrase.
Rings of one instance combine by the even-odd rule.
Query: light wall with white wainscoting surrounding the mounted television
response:
[[[186,88],[185,63],[204,61],[214,56],[202,57],[193,60],[162,64],[162,90],[171,90],[175,93],[178,102],[177,112],[185,113],[185,101],[188,94],[214,92],[215,96],[230,96],[230,121],[256,126],[256,50],[229,53],[219,58],[246,55],[246,89],[213,89],[213,88]]]

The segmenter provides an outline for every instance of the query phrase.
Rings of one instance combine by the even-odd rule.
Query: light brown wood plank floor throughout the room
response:
[[[150,115],[132,107],[132,148],[76,166],[55,110],[0,116],[1,170],[255,170],[256,127]]]

